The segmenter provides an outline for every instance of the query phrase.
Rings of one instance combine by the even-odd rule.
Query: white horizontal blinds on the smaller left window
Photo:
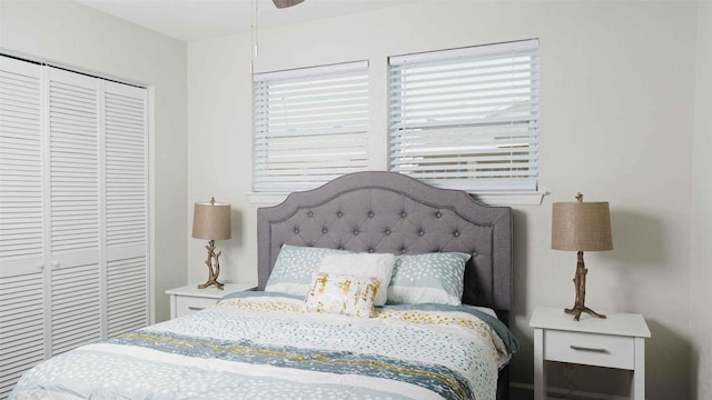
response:
[[[369,166],[368,63],[255,74],[255,192],[313,189]]]

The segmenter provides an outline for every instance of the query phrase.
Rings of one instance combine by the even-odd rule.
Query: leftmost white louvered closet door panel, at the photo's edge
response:
[[[0,57],[0,399],[44,358],[41,69]]]

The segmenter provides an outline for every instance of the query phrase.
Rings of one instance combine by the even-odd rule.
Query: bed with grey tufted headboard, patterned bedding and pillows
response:
[[[57,356],[10,399],[507,398],[510,208],[358,172],[257,217],[258,291]]]

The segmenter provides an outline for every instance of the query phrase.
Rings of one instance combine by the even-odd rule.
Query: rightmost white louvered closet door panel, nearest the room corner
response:
[[[147,98],[103,82],[108,336],[148,324]]]

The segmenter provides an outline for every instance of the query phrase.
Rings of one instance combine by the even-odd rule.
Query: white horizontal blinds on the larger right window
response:
[[[389,168],[469,191],[536,190],[538,40],[389,58]]]

